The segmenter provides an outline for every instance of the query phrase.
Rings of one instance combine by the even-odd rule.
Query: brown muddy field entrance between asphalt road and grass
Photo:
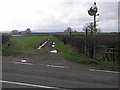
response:
[[[43,47],[42,49],[44,48],[45,47]],[[92,68],[92,66],[78,64],[65,59],[60,51],[58,51],[57,53],[50,53],[50,51],[53,49],[54,48],[51,47],[47,48],[47,53],[44,54],[40,54],[37,49],[32,49],[30,52],[24,54],[3,56],[2,60],[10,62],[19,62],[22,59],[26,59],[28,63],[32,64],[59,65],[72,68]]]

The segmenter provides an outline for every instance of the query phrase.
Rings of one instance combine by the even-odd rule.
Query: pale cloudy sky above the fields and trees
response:
[[[101,32],[118,32],[118,0],[0,0],[0,32],[63,32],[68,26],[82,32],[93,22],[88,9],[94,2]]]

